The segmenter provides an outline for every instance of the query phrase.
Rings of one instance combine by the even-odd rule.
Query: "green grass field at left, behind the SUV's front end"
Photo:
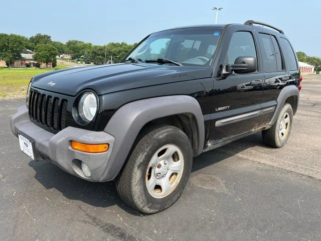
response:
[[[0,68],[0,99],[23,98],[33,76],[65,68],[68,67],[57,65],[54,69]]]

